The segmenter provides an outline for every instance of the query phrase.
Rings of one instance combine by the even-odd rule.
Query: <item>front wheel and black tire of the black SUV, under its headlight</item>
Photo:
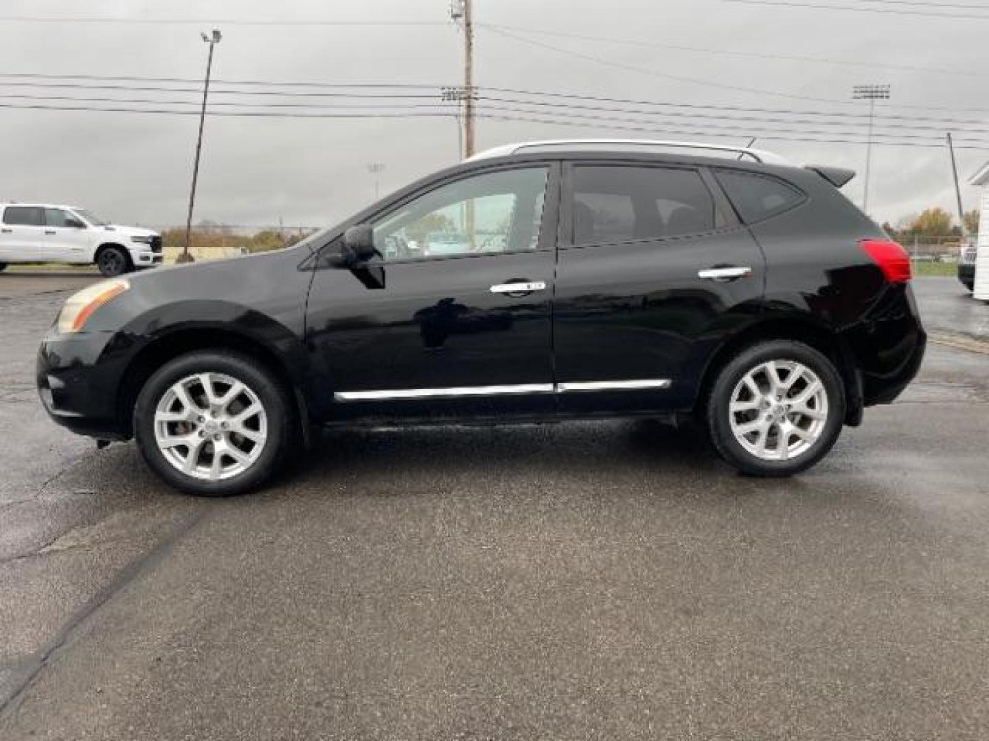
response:
[[[204,376],[214,392],[213,404],[206,403]],[[233,384],[242,384],[243,390]],[[235,391],[239,393],[229,396]],[[274,375],[240,353],[180,356],[148,378],[137,395],[137,447],[154,472],[179,491],[242,494],[267,481],[291,448],[295,436],[289,394]],[[260,410],[252,412],[255,405]],[[247,416],[238,422],[237,415],[243,414]],[[176,444],[177,439],[189,440],[195,448]]]

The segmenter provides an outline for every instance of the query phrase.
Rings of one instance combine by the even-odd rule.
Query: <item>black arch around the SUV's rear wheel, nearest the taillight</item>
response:
[[[694,411],[704,408],[718,371],[743,349],[767,340],[800,342],[828,358],[835,365],[845,386],[845,424],[857,427],[861,423],[864,408],[862,380],[851,349],[840,334],[820,322],[804,317],[766,318],[722,343],[701,373]]]

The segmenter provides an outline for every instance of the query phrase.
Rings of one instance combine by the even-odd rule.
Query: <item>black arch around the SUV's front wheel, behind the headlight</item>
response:
[[[298,378],[289,370],[278,353],[257,338],[242,332],[220,327],[188,327],[176,329],[156,337],[128,364],[121,376],[117,393],[117,417],[125,435],[134,434],[132,416],[137,394],[154,371],[181,355],[197,350],[232,350],[257,361],[285,385],[295,400],[294,423],[304,443],[309,447],[311,433],[309,405],[300,388]]]

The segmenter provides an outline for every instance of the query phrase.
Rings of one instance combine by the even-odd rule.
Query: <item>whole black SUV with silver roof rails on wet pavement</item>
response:
[[[689,415],[736,468],[795,473],[924,354],[909,259],[839,193],[853,176],[500,147],[290,249],[83,290],[41,396],[199,494],[259,485],[315,424]]]

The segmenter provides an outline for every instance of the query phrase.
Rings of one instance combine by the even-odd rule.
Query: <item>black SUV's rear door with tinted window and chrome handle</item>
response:
[[[565,169],[554,301],[562,413],[680,408],[698,367],[760,310],[764,258],[703,168]]]

